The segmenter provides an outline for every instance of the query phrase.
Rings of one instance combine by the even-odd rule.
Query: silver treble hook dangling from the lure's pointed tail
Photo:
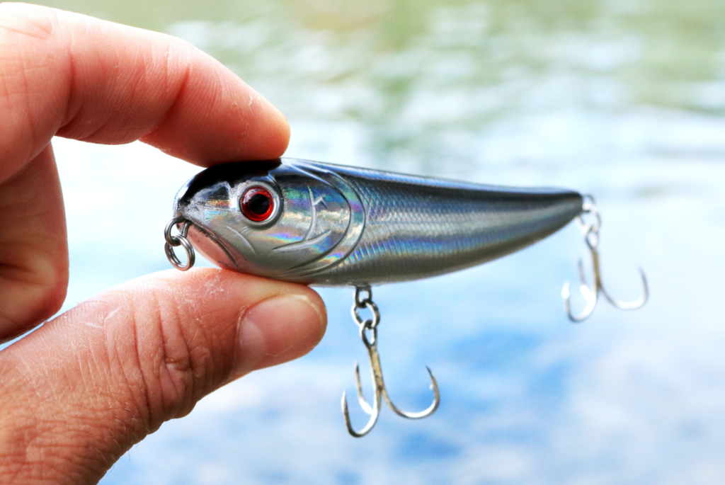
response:
[[[575,323],[582,322],[586,320],[589,315],[592,315],[592,312],[597,305],[597,297],[599,296],[599,294],[604,295],[605,299],[607,299],[610,304],[612,304],[614,307],[619,308],[620,310],[637,310],[637,308],[642,307],[642,305],[647,303],[647,299],[650,297],[650,290],[647,286],[647,276],[645,276],[645,272],[644,270],[642,270],[642,268],[639,268],[639,274],[642,276],[642,287],[644,289],[642,297],[635,300],[634,302],[618,302],[616,299],[610,297],[607,293],[607,290],[604,288],[604,284],[602,283],[602,272],[600,269],[600,258],[598,251],[599,230],[602,225],[602,217],[597,210],[594,197],[589,195],[585,196],[585,198],[589,199],[590,202],[584,202],[584,204],[582,204],[581,213],[592,214],[595,217],[595,221],[592,224],[587,224],[584,223],[584,218],[581,217],[581,215],[578,215],[576,217],[576,222],[579,223],[579,228],[581,228],[581,232],[584,233],[584,241],[587,243],[587,246],[589,247],[589,252],[592,254],[592,266],[594,268],[594,281],[592,282],[593,286],[589,286],[587,284],[587,278],[584,276],[584,262],[579,260],[579,289],[581,291],[581,295],[587,301],[587,304],[584,307],[584,311],[582,311],[579,315],[573,315],[571,313],[571,291],[568,281],[564,283],[564,287],[561,290],[561,297],[564,299],[564,308],[566,309],[566,315],[568,315],[569,320]]]

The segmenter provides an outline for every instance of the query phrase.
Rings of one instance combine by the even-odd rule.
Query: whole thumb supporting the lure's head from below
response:
[[[325,328],[306,286],[227,270],[168,271],[107,291],[0,352],[0,476],[95,483],[165,420],[234,378],[305,355]]]

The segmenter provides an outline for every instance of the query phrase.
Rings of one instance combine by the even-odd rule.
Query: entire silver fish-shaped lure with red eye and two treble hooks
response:
[[[508,188],[444,181],[379,170],[300,159],[234,162],[197,174],[178,191],[174,218],[165,228],[165,251],[179,270],[194,265],[195,249],[217,265],[284,281],[355,286],[352,317],[368,349],[373,373],[373,405],[363,397],[355,364],[357,397],[367,425],[355,431],[346,394],[342,410],[352,436],[375,426],[382,399],[404,418],[425,418],[440,397],[431,377],[434,401],[419,413],[399,410],[389,398],[377,350],[380,312],[373,284],[408,281],[449,273],[523,249],[576,219],[592,254],[592,286],[579,261],[581,293],[587,304],[573,315],[569,284],[562,295],[568,317],[587,318],[602,294],[624,310],[647,301],[647,279],[640,270],[643,296],[616,302],[602,286],[598,253],[601,218],[594,199],[554,188]],[[592,219],[586,223],[584,217]],[[178,233],[173,234],[177,228]],[[182,246],[183,264],[174,252]],[[367,309],[372,315],[360,315]]]

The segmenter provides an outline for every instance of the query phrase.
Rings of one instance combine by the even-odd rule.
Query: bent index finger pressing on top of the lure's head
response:
[[[289,141],[272,104],[172,36],[2,3],[0,62],[0,183],[55,134],[141,139],[197,165],[276,158]]]

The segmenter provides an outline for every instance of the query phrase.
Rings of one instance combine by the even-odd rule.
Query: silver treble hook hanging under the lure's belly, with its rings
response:
[[[364,299],[361,298],[360,295],[363,291],[368,293],[368,296]],[[370,310],[370,312],[373,313],[372,319],[363,320],[363,318],[360,317],[360,310],[363,308],[367,308],[368,310]],[[360,338],[363,339],[363,344],[365,344],[365,348],[368,349],[368,355],[370,357],[370,369],[373,374],[373,386],[375,387],[375,398],[373,399],[372,406],[370,406],[365,400],[365,396],[363,396],[363,385],[360,384],[360,365],[355,362],[355,386],[357,387],[357,400],[360,402],[360,406],[363,407],[363,411],[370,415],[370,420],[368,420],[368,424],[365,425],[365,428],[361,429],[360,431],[355,431],[352,428],[352,423],[350,423],[350,416],[347,408],[347,391],[343,391],[342,414],[344,415],[345,425],[347,426],[347,431],[349,432],[349,434],[355,436],[355,438],[362,438],[366,434],[370,433],[370,430],[373,429],[373,426],[375,426],[375,423],[378,421],[382,399],[385,399],[386,404],[390,407],[390,409],[393,410],[395,414],[402,416],[403,418],[422,419],[427,418],[428,416],[433,414],[436,409],[438,409],[438,406],[441,403],[441,397],[438,391],[438,383],[436,383],[436,378],[433,376],[431,369],[427,366],[426,370],[428,370],[428,375],[431,376],[431,389],[433,389],[433,404],[428,406],[426,410],[420,411],[418,413],[408,413],[406,411],[399,410],[388,396],[388,391],[385,388],[385,382],[383,381],[383,369],[380,365],[380,355],[378,354],[378,323],[380,323],[380,311],[378,310],[378,306],[373,303],[373,291],[372,289],[370,289],[369,285],[355,287],[355,304],[352,305],[352,318],[355,320],[357,327],[360,329]],[[368,331],[372,333],[371,339],[368,339]]]

